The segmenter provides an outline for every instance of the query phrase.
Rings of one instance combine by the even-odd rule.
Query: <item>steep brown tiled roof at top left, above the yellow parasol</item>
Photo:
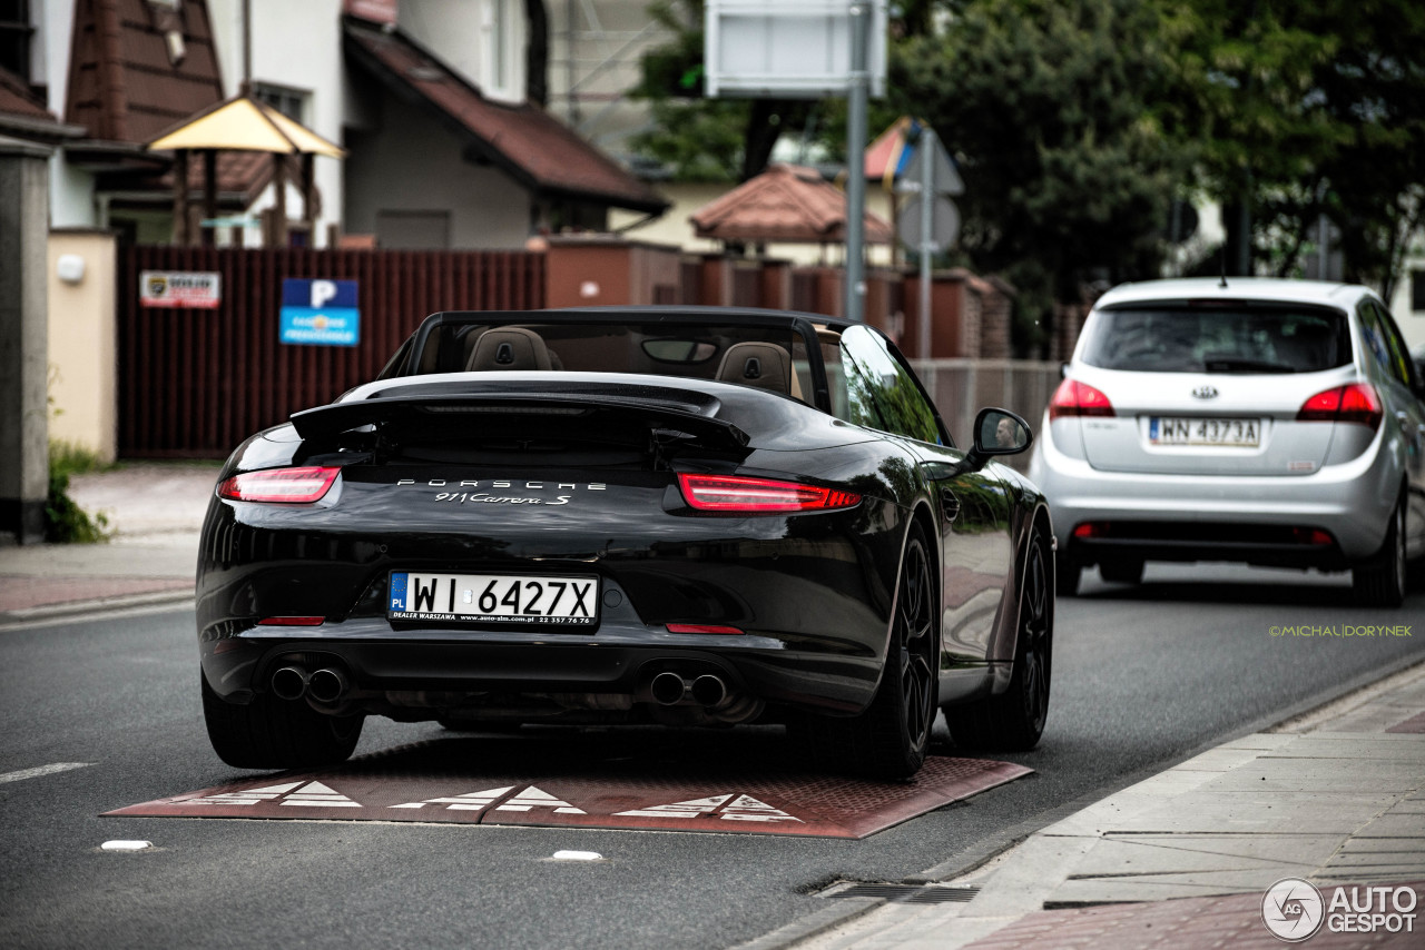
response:
[[[178,47],[181,57],[172,54]],[[204,0],[177,10],[148,0],[76,0],[64,117],[90,138],[147,142],[221,101]]]

